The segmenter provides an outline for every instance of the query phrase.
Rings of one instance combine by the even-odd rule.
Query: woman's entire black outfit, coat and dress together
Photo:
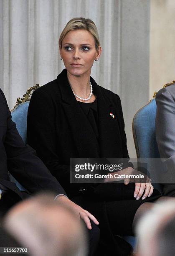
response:
[[[135,184],[104,183],[70,192],[70,158],[128,158],[119,96],[90,78],[97,96],[92,103],[77,102],[68,84],[66,69],[57,79],[33,93],[28,110],[28,142],[36,149],[68,197],[99,220],[100,256],[127,256],[131,246],[119,236],[131,235],[138,207],[160,197],[136,200]],[[111,118],[110,113],[116,118]],[[97,142],[97,143],[96,143]],[[76,184],[72,184],[76,185]],[[118,196],[120,195],[120,196]]]

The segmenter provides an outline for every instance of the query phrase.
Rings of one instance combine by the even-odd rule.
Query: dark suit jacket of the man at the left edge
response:
[[[10,182],[8,172],[31,193],[41,190],[53,191],[57,195],[65,193],[33,148],[24,144],[0,90],[0,184],[23,198],[16,185]]]

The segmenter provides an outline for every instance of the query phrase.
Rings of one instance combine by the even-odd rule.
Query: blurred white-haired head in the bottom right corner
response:
[[[175,205],[170,199],[155,204],[139,221],[137,256],[175,255]]]

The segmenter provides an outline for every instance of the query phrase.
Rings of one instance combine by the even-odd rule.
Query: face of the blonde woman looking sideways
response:
[[[95,59],[99,59],[101,46],[96,50],[91,33],[84,29],[69,31],[62,41],[60,56],[68,72],[75,76],[91,74]]]

